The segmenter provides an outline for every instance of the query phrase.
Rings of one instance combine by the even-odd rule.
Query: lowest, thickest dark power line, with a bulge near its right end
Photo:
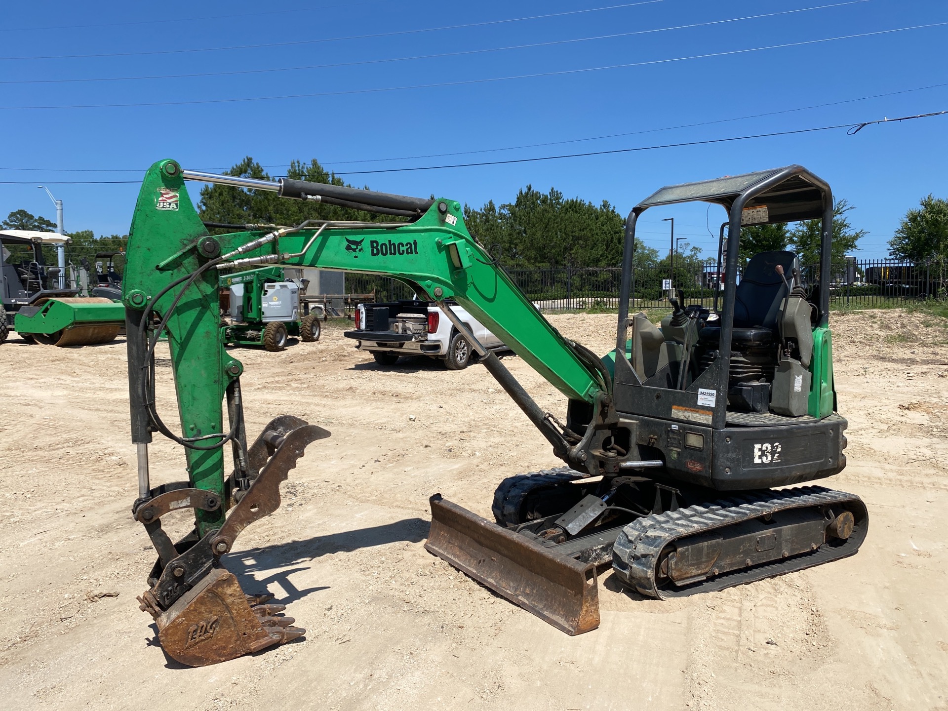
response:
[[[794,129],[791,131],[774,131],[767,134],[753,134],[748,136],[735,136],[735,137],[726,137],[726,138],[707,138],[704,140],[692,140],[692,141],[682,141],[679,143],[665,143],[662,145],[655,146],[638,146],[634,148],[616,148],[609,151],[591,151],[589,153],[576,153],[576,154],[567,154],[567,155],[544,155],[534,158],[514,158],[510,160],[489,160],[479,163],[456,163],[453,165],[436,165],[436,166],[421,166],[417,168],[390,168],[385,170],[378,171],[356,171],[352,173],[335,173],[336,175],[365,175],[370,173],[409,173],[415,171],[437,171],[445,170],[448,168],[474,168],[480,166],[490,166],[490,165],[510,165],[513,163],[535,163],[539,161],[546,160],[560,160],[563,158],[580,158],[580,157],[589,157],[593,155],[615,155],[615,154],[624,154],[624,153],[636,153],[640,151],[657,151],[665,148],[684,148],[686,146],[705,146],[711,145],[714,143],[728,143],[738,140],[750,140],[752,138],[770,138],[777,136],[794,136],[798,134],[810,134],[816,133],[819,131],[831,131],[834,129],[848,129],[848,135],[852,136],[853,133],[849,133],[849,130],[859,127],[860,129],[866,128],[866,126],[872,126],[877,123],[896,123],[901,121],[913,120],[915,118],[931,118],[936,116],[945,116],[948,115],[948,110],[945,111],[933,111],[927,114],[917,114],[915,116],[903,116],[899,118],[877,118],[870,121],[860,121],[858,123],[837,123],[832,126],[817,126],[813,128],[801,128]],[[283,177],[286,177],[285,175]],[[34,185],[37,181],[35,180],[3,180],[0,181],[0,185]],[[140,183],[139,180],[68,180],[68,181],[56,181],[56,180],[45,180],[44,182],[50,185],[109,185],[109,184],[130,184],[130,183]]]

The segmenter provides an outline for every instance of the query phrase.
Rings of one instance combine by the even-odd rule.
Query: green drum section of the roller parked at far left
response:
[[[107,343],[125,325],[125,307],[104,297],[43,299],[23,306],[13,328],[27,339],[52,346]]]

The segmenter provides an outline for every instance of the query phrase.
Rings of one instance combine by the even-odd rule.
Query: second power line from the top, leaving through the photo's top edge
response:
[[[695,27],[710,27],[714,25],[725,25],[728,23],[742,22],[744,20],[758,20],[765,17],[776,17],[779,15],[791,15],[799,12],[809,12],[814,9],[841,8],[847,5],[860,5],[869,2],[869,0],[848,0],[848,2],[835,3],[832,5],[818,5],[811,8],[787,9],[777,12],[765,12],[758,15],[746,15],[744,17],[731,17],[724,20],[711,20],[709,22],[691,23],[689,25],[677,25],[674,27],[656,27],[654,29],[638,29],[631,32],[616,32],[613,34],[595,35],[592,37],[578,37],[569,40],[552,40],[550,42],[536,42],[528,45],[509,45],[499,47],[487,47],[484,49],[465,49],[458,52],[442,52],[439,54],[420,54],[410,57],[391,57],[387,59],[359,60],[358,62],[338,62],[334,64],[303,64],[301,66],[283,66],[272,69],[235,69],[222,72],[195,72],[191,74],[154,74],[137,77],[89,77],[81,79],[24,79],[24,80],[4,80],[0,84],[49,84],[49,83],[83,83],[83,82],[141,82],[163,79],[195,79],[205,77],[231,77],[247,74],[273,74],[278,72],[296,72],[310,69],[334,69],[343,66],[362,66],[366,64],[391,64],[393,62],[413,62],[417,60],[428,59],[446,59],[448,57],[463,57],[473,54],[488,54],[491,52],[504,52],[513,49],[536,49],[538,47],[557,46],[557,45],[575,45],[581,42],[594,42],[598,40],[612,40],[621,37],[631,37],[634,35],[654,34],[656,32],[668,32],[676,29],[692,29]]]

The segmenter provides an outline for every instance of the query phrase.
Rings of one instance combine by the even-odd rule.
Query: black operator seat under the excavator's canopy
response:
[[[784,250],[760,252],[747,263],[734,300],[732,347],[763,346],[775,341],[780,305],[787,296],[787,285],[776,272],[777,264],[787,275],[799,269],[796,255]],[[720,326],[705,326],[698,338],[705,346],[717,345]]]

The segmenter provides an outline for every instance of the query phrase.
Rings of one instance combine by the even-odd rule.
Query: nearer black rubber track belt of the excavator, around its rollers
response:
[[[671,585],[660,589],[656,584],[655,568],[659,556],[666,546],[678,538],[757,519],[780,510],[843,503],[852,511],[856,523],[852,534],[842,545],[822,545],[812,553],[761,563],[753,568],[718,575],[680,588]],[[684,597],[793,573],[830,560],[852,556],[866,538],[867,529],[866,504],[859,497],[845,491],[833,491],[822,486],[754,491],[733,499],[689,506],[678,511],[666,511],[664,514],[652,514],[632,521],[619,534],[612,548],[612,570],[624,585],[649,597]]]

